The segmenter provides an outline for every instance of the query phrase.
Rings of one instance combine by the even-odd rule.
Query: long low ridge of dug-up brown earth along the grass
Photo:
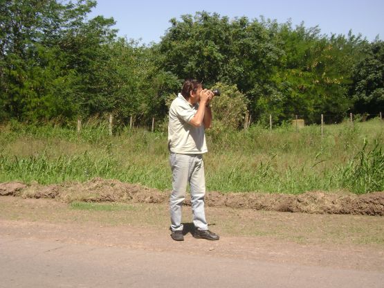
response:
[[[85,183],[62,183],[29,186],[21,182],[0,183],[0,195],[24,198],[54,198],[58,201],[118,201],[138,203],[166,203],[169,192],[146,188],[138,184],[122,183],[118,180],[92,179]],[[190,205],[190,198],[185,200]],[[311,191],[300,195],[264,193],[208,192],[208,206],[251,208],[282,212],[384,215],[384,192],[366,195],[351,193]]]

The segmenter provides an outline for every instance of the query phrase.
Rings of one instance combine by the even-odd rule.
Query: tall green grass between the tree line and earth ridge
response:
[[[379,119],[311,125],[295,131],[207,132],[205,174],[208,190],[302,193],[384,190],[384,123]],[[141,183],[169,190],[167,134],[121,128],[114,136],[100,123],[73,127],[10,122],[0,127],[0,181],[42,184],[87,181],[94,177]]]

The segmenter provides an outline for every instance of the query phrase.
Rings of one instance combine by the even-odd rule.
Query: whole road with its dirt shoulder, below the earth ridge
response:
[[[0,287],[383,287],[383,217],[208,208],[221,240],[174,242],[165,206],[124,207],[0,197]]]

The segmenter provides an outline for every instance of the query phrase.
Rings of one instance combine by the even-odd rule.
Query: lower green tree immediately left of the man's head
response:
[[[163,118],[165,100],[179,89],[180,81],[156,64],[156,47],[119,39],[109,46],[109,53],[104,81],[109,82],[108,99],[113,113],[125,123],[130,116],[143,124],[150,123],[152,117]]]

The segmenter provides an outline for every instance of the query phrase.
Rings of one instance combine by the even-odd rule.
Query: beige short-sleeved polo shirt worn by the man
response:
[[[204,125],[194,127],[190,120],[196,114],[198,104],[192,105],[179,95],[172,101],[168,124],[168,147],[179,154],[203,154],[208,152]]]

